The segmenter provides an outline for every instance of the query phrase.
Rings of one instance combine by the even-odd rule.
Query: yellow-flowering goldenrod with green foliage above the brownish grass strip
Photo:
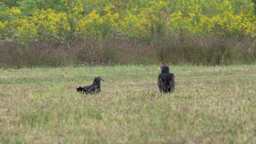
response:
[[[116,29],[142,39],[179,31],[253,37],[253,6],[248,0],[20,0],[13,5],[3,1],[0,34],[34,39],[51,35],[105,38]]]

